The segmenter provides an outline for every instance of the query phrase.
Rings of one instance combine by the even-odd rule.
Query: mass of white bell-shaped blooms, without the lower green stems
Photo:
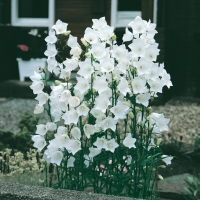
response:
[[[60,164],[63,159],[63,151],[67,150],[73,155],[81,150],[81,137],[88,139],[96,134],[97,139],[90,147],[90,157],[98,155],[102,149],[114,152],[120,145],[112,132],[116,131],[116,125],[120,119],[126,119],[133,112],[134,107],[148,107],[151,98],[166,85],[170,87],[170,75],[164,69],[164,65],[155,63],[159,54],[158,44],[155,43],[155,24],[146,22],[137,17],[126,28],[123,41],[125,44],[116,45],[113,27],[107,25],[105,18],[94,19],[92,28],[85,30],[83,44],[86,46],[86,59],[79,60],[82,53],[77,38],[69,35],[67,45],[71,48],[71,58],[63,63],[58,63],[55,56],[58,53],[55,43],[57,35],[65,34],[67,24],[60,20],[49,31],[46,37],[48,56],[48,70],[57,75],[61,82],[52,86],[50,95],[44,93],[44,74],[35,73],[31,77],[31,88],[39,104],[35,108],[35,114],[44,111],[44,105],[50,102],[51,115],[54,122],[51,125],[38,125],[33,141],[35,147],[42,150],[46,145],[45,134],[48,130],[55,131],[55,138],[51,140],[45,151],[50,162]],[[73,87],[70,80],[72,70],[78,71],[77,83]],[[90,97],[85,99],[86,95]],[[135,101],[136,103],[132,103]],[[132,105],[133,104],[133,105]],[[139,107],[138,107],[139,108]],[[135,111],[136,112],[136,111]],[[83,130],[79,128],[81,117],[92,115],[94,124],[86,123]],[[142,116],[141,110],[137,111],[138,124],[152,127],[153,133],[161,133],[168,130],[163,114],[152,113],[147,118]],[[55,122],[63,121],[64,125],[57,128]],[[99,133],[106,133],[98,137]],[[123,145],[127,148],[135,148],[136,138],[133,133],[126,133]],[[109,137],[108,137],[109,135]]]

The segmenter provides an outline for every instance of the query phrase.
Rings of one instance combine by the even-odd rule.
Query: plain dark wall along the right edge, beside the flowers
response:
[[[200,97],[200,1],[167,0],[165,62],[173,96]]]

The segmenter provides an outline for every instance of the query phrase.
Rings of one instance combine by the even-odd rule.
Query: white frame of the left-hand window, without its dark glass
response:
[[[11,1],[11,25],[25,27],[49,27],[54,24],[55,0],[49,0],[48,18],[21,18],[18,15],[18,0]]]

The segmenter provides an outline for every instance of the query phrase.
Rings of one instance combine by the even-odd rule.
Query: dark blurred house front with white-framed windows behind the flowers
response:
[[[163,101],[174,96],[200,96],[199,0],[0,0],[0,84],[19,80],[19,44],[28,45],[31,29],[47,33],[60,19],[80,38],[92,19],[106,17],[118,37],[140,15],[157,24],[158,62],[165,63],[173,87],[164,88]]]

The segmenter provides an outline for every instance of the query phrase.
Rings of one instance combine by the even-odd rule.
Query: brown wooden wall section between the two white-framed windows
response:
[[[111,0],[56,0],[56,20],[68,23],[68,30],[79,39],[92,24],[92,19],[105,16],[110,24]]]

